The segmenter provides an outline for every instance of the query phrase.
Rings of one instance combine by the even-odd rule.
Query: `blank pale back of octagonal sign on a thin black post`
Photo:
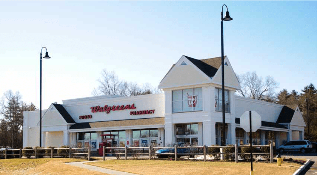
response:
[[[258,130],[262,125],[261,116],[254,110],[251,111],[251,122],[252,132],[256,132],[256,130]],[[246,132],[250,132],[249,111],[245,111],[240,117],[240,127]]]

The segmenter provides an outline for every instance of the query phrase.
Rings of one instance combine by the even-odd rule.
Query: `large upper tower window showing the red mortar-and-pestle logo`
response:
[[[191,88],[172,91],[173,112],[203,110],[203,89]]]

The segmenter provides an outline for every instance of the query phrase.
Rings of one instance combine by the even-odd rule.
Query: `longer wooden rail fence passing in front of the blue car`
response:
[[[235,152],[234,153],[207,153],[208,148],[228,148],[228,147],[234,147],[235,148]],[[106,154],[114,154],[114,155],[124,155],[125,160],[127,159],[128,155],[145,155],[145,156],[149,156],[149,160],[152,159],[152,156],[154,155],[173,155],[175,161],[177,161],[178,159],[178,155],[203,155],[204,156],[204,162],[206,161],[206,155],[235,155],[235,160],[236,162],[238,162],[238,155],[250,155],[251,153],[238,153],[238,148],[239,147],[250,147],[248,145],[243,145],[243,146],[238,146],[237,144],[234,146],[193,146],[193,147],[178,147],[177,145],[175,145],[175,147],[105,147],[103,146],[103,160],[105,160],[105,155]],[[270,156],[270,162],[273,163],[273,146],[272,144],[270,145],[252,145],[252,147],[269,147],[270,148],[270,152],[269,153],[252,153],[253,155],[269,155]],[[191,148],[196,148],[196,149],[203,149],[203,153],[177,153],[177,149],[181,149],[181,148],[187,148],[187,149],[191,149]],[[109,149],[109,153],[106,152],[106,149]],[[124,149],[124,153],[120,153],[120,151],[116,152],[114,150],[121,150],[121,152],[123,152]],[[148,153],[133,153],[133,149],[145,149],[148,150]],[[171,152],[174,153],[152,153],[152,149],[171,149]],[[130,153],[129,153],[130,150]],[[131,153],[132,151],[132,153]],[[113,153],[114,152],[114,153]]]

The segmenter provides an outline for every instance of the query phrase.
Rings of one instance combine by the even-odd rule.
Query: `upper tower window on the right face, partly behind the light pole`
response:
[[[224,111],[230,112],[229,91],[224,90]],[[215,88],[215,110],[222,111],[222,90]]]

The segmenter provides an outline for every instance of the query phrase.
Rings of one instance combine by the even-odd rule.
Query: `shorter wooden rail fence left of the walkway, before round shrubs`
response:
[[[32,149],[8,149],[5,148],[4,149],[4,153],[0,154],[3,155],[5,159],[8,158],[8,156],[12,155],[19,155],[19,158],[21,159],[23,155],[30,155],[30,156],[34,156],[35,159],[38,158],[38,155],[46,155],[46,156],[50,156],[51,158],[53,158],[54,156],[62,156],[64,155],[65,157],[74,157],[74,156],[80,156],[80,155],[87,155],[88,160],[90,160],[91,157],[91,148],[90,147],[84,147],[84,148],[32,148]],[[22,153],[23,150],[34,150],[34,153]],[[39,150],[50,150],[51,153],[39,153]],[[54,153],[54,150],[69,150],[69,153]],[[77,153],[76,150],[88,150],[87,153]],[[11,154],[8,154],[8,151],[12,151]],[[18,154],[15,154],[14,152],[19,151]]]

